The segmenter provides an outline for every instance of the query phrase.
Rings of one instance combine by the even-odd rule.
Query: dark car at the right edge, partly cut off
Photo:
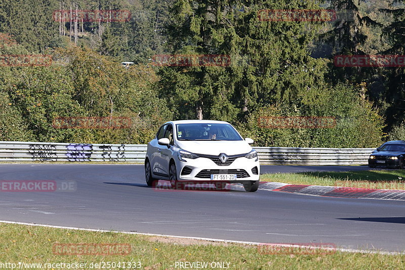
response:
[[[369,157],[369,167],[384,166],[403,169],[405,141],[388,141],[374,150]]]

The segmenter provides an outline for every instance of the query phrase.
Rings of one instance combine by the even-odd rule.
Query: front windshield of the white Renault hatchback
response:
[[[240,141],[242,138],[229,124],[178,124],[177,139],[181,141]]]

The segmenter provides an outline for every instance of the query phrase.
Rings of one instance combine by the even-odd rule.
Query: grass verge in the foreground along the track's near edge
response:
[[[403,269],[405,255],[328,252],[303,254],[284,250],[263,254],[257,246],[240,244],[170,244],[158,238],[119,233],[88,232],[39,226],[0,223],[0,262],[9,263],[95,263],[140,261],[141,268],[176,269],[175,262],[230,262],[229,269]],[[56,255],[55,243],[130,244],[128,255]],[[277,249],[278,251],[281,251]],[[302,251],[302,250],[301,250]],[[173,265],[173,266],[171,266]],[[35,269],[31,267],[30,269]],[[119,268],[115,268],[119,269]],[[123,268],[121,268],[123,269]],[[128,269],[128,268],[127,268]],[[179,269],[177,267],[177,269]],[[208,267],[208,269],[212,269]],[[55,268],[56,270],[56,268]]]

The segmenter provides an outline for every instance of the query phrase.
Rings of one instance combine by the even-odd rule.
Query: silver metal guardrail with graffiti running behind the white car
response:
[[[253,147],[262,164],[366,165],[375,148]],[[143,162],[146,144],[0,141],[0,162]]]

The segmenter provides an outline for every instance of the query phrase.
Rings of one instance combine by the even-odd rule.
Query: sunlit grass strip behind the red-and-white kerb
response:
[[[277,173],[260,176],[261,181],[303,185],[405,189],[405,170]]]

